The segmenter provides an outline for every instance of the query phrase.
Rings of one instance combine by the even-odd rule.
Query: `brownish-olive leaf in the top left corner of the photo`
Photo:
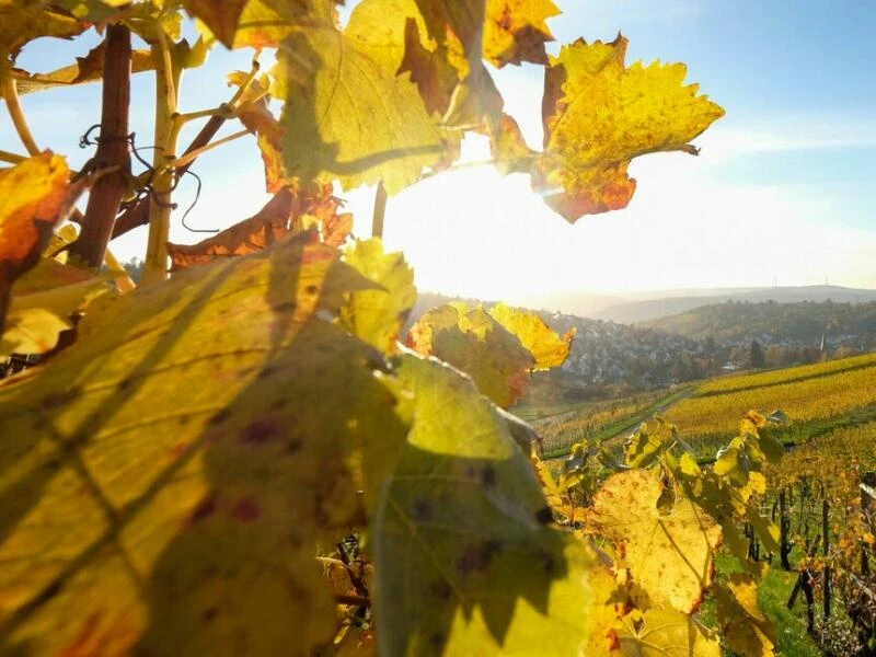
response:
[[[72,38],[88,27],[64,10],[38,2],[0,0],[0,59],[14,60],[22,47],[35,38]]]

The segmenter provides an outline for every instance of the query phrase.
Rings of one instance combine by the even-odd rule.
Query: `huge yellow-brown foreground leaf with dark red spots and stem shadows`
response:
[[[314,541],[361,518],[344,454],[394,414],[374,350],[321,319],[373,284],[307,238],[103,297],[0,384],[0,652],[331,641]]]

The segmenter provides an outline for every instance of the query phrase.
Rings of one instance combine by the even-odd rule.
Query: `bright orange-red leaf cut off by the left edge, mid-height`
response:
[[[0,331],[12,284],[39,262],[68,201],[70,170],[46,151],[0,169]]]

